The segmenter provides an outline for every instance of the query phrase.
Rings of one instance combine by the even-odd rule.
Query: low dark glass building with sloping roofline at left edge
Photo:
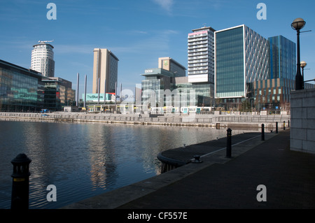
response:
[[[41,73],[0,60],[0,110],[41,110],[45,93],[41,78]]]

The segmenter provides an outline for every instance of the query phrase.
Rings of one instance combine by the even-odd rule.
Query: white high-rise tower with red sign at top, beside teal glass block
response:
[[[214,31],[193,29],[188,34],[188,82],[214,83]]]

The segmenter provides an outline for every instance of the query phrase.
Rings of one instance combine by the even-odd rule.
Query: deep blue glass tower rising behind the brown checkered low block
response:
[[[270,78],[295,80],[295,43],[283,36],[268,38],[270,45]]]

